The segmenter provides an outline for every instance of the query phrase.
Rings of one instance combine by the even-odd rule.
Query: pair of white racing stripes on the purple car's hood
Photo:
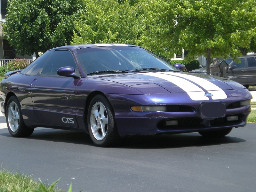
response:
[[[193,78],[194,76],[192,76],[190,78],[190,76],[186,75],[186,74],[176,74],[176,73],[168,73],[168,72],[141,73],[141,74],[148,75],[148,76],[154,76],[154,77],[158,77],[158,78],[164,79],[166,81],[169,81],[169,82],[177,85],[178,87],[180,87],[185,92],[187,92],[188,96],[192,100],[195,100],[195,101],[209,100],[208,97],[206,97],[206,96],[204,96],[204,94],[202,94],[202,92],[204,92],[204,91],[200,87],[198,87],[196,84],[200,84],[200,86],[206,90],[207,89],[213,90],[213,91],[208,91],[209,93],[213,94],[213,96],[211,97],[213,100],[227,98],[227,95],[225,94],[224,91],[222,91],[220,89],[220,87],[218,87],[215,84],[208,82],[207,80],[202,79],[200,77]],[[186,80],[185,78],[195,82],[195,84],[191,83],[190,81]]]

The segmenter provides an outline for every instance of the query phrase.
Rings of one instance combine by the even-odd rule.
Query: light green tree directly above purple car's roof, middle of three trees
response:
[[[72,44],[135,44],[143,31],[137,4],[130,1],[82,0],[86,11],[76,22]]]

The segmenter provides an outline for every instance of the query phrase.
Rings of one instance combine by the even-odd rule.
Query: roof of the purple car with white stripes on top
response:
[[[79,45],[66,45],[61,47],[55,47],[50,50],[56,50],[56,49],[70,49],[70,50],[76,50],[79,48],[87,48],[87,47],[106,47],[106,46],[130,46],[130,47],[139,47],[137,45],[130,45],[130,44],[79,44]]]

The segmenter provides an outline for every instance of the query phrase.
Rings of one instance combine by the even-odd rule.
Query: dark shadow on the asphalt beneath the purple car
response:
[[[9,133],[1,135],[11,137]],[[33,134],[26,139],[48,140],[52,142],[73,143],[78,145],[95,146],[90,139],[89,134],[77,131],[67,131],[58,129],[39,128],[35,129]],[[182,134],[160,134],[150,136],[132,136],[122,138],[117,145],[111,148],[137,148],[137,149],[158,149],[158,148],[184,148],[184,147],[202,147],[221,145],[228,143],[245,142],[237,137],[206,138],[199,133]],[[96,146],[95,146],[96,147]]]

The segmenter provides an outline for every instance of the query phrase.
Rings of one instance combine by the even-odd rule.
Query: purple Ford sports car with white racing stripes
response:
[[[6,74],[1,111],[13,137],[50,127],[87,132],[97,146],[159,133],[221,137],[245,126],[252,96],[243,85],[177,66],[135,45],[57,47]]]

